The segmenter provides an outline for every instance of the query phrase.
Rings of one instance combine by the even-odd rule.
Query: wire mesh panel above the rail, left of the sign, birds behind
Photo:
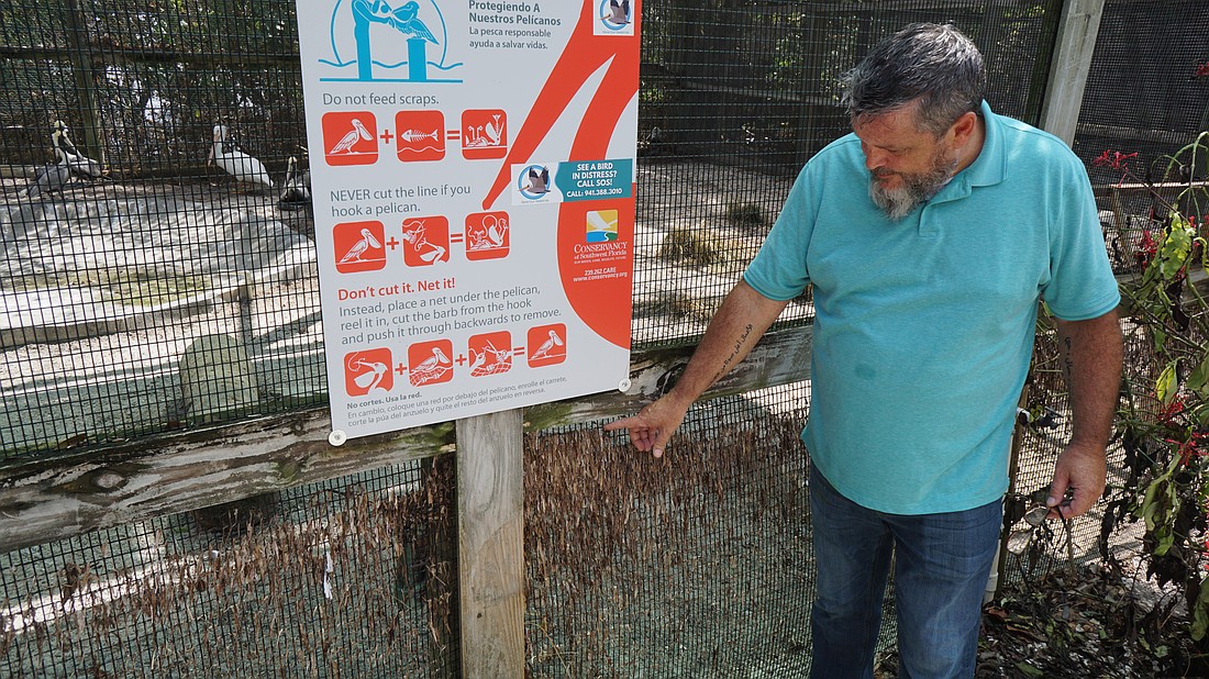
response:
[[[293,10],[4,10],[2,457],[323,402]]]

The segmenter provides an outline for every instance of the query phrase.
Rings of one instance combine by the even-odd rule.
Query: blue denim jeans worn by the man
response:
[[[973,677],[1002,511],[996,500],[948,513],[883,513],[844,498],[811,466],[818,593],[810,677],[872,679],[891,555],[898,677]]]

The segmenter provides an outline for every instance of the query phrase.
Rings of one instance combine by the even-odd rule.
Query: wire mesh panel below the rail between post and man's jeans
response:
[[[809,668],[802,384],[700,404],[659,460],[598,429],[527,446],[533,677]]]

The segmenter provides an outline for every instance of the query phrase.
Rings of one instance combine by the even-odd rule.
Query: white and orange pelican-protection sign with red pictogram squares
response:
[[[335,443],[624,388],[637,0],[297,0]]]

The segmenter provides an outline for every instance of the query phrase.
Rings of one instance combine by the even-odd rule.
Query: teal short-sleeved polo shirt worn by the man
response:
[[[1084,320],[1120,302],[1082,162],[983,103],[978,158],[889,220],[855,134],[802,169],[745,280],[771,300],[814,286],[811,463],[890,513],[991,503],[1032,354],[1037,303]]]

